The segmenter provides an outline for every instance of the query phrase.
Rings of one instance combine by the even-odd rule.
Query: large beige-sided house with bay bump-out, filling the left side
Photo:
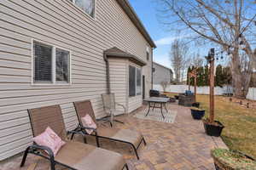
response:
[[[127,0],[0,4],[0,161],[31,144],[27,109],[61,105],[70,130],[73,101],[90,99],[99,118],[101,94],[129,112],[148,97],[155,45]]]

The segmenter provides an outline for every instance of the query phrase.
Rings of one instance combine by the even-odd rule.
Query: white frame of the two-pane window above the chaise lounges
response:
[[[44,43],[45,45],[49,45],[53,48],[52,50],[52,70],[51,70],[51,73],[52,73],[52,80],[51,82],[35,82],[34,81],[34,42],[39,42],[39,43]],[[61,48],[59,46],[56,46],[56,45],[53,45],[49,42],[44,42],[44,41],[41,41],[41,40],[37,40],[37,39],[33,39],[32,38],[32,43],[31,43],[31,85],[32,86],[70,86],[72,85],[72,52],[66,48]],[[55,62],[56,62],[56,48],[59,48],[59,49],[62,49],[62,50],[65,50],[65,51],[68,51],[69,52],[69,82],[58,82],[56,81],[56,65],[55,65]]]

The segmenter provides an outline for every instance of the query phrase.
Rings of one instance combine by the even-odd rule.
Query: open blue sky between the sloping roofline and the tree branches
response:
[[[157,48],[154,49],[154,61],[171,68],[168,54],[175,36],[162,28],[163,26],[156,17],[155,3],[152,2],[151,0],[130,0],[131,6],[157,45]]]

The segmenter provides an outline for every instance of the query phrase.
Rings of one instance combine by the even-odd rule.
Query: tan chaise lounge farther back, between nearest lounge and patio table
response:
[[[131,131],[129,129],[97,126],[97,128],[94,129],[94,133],[88,134],[85,131],[85,129],[88,127],[83,126],[81,122],[81,117],[84,117],[86,114],[89,114],[91,118],[94,120],[94,122],[96,122],[96,116],[94,114],[90,100],[74,102],[73,104],[75,106],[79,118],[79,126],[74,130],[75,132],[82,132],[87,135],[95,136],[96,144],[98,147],[100,147],[99,138],[131,144],[132,148],[136,153],[137,159],[139,159],[137,149],[139,148],[140,144],[142,144],[142,142],[146,145],[146,141],[141,133],[138,133],[137,131]],[[71,139],[73,139],[73,135]],[[84,139],[84,142],[86,142],[86,139]]]

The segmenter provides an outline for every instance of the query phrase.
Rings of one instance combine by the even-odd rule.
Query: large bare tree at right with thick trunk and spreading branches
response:
[[[253,67],[256,67],[254,1],[244,0],[157,0],[161,19],[172,30],[195,33],[195,37],[215,44],[230,54],[235,96],[247,95]],[[194,37],[194,38],[195,38]],[[241,71],[240,51],[250,61],[248,71]],[[246,76],[244,75],[246,73]],[[241,82],[242,77],[246,80]]]

